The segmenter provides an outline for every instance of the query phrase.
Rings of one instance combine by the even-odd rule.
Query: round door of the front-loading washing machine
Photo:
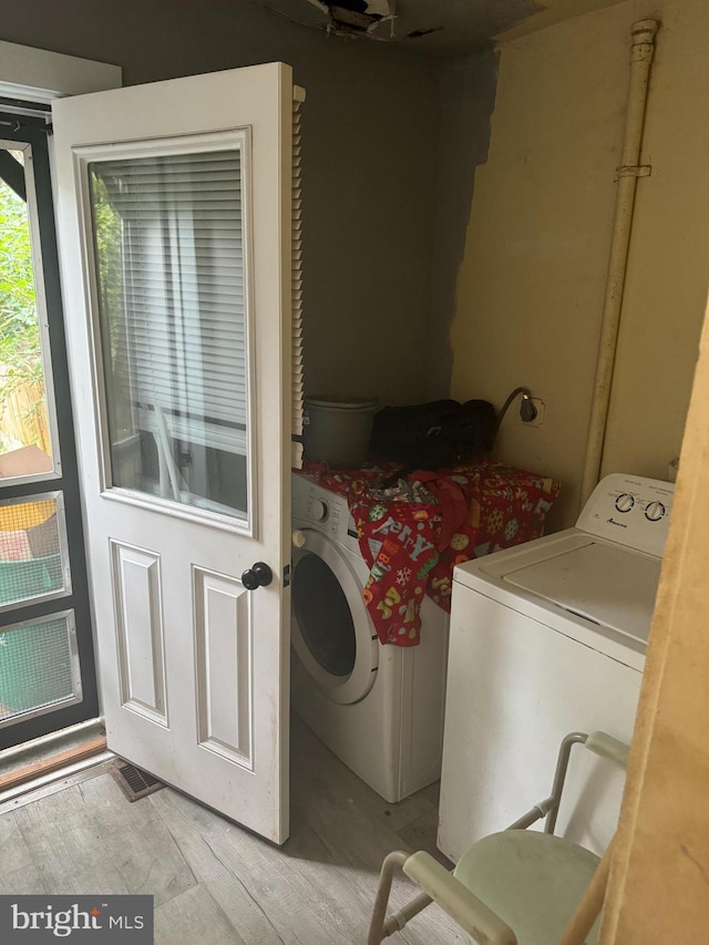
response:
[[[295,549],[292,562],[292,645],[328,699],[358,702],[372,688],[379,666],[363,585],[349,552],[320,532],[306,528],[302,534],[306,543]]]

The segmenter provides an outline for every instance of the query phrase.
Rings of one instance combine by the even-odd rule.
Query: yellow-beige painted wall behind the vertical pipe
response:
[[[631,2],[505,43],[490,153],[475,172],[451,331],[452,394],[501,404],[517,384],[546,404],[503,424],[501,459],[578,503],[600,325],[630,24],[662,21],[638,184],[604,472],[666,476],[679,452],[709,281],[709,8]]]

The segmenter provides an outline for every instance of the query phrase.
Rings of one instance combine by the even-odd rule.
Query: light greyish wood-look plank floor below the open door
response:
[[[291,742],[282,848],[168,789],[130,804],[103,773],[0,816],[0,893],[148,893],[156,945],[364,945],[383,856],[436,852],[435,787],[388,804],[295,717]],[[389,941],[463,938],[430,906]]]

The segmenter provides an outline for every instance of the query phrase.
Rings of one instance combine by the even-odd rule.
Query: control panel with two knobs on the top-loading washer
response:
[[[576,527],[661,557],[674,499],[671,482],[613,473],[598,483]]]

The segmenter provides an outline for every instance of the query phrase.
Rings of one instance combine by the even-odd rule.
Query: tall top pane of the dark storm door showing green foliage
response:
[[[30,153],[0,147],[0,483],[53,469]]]

